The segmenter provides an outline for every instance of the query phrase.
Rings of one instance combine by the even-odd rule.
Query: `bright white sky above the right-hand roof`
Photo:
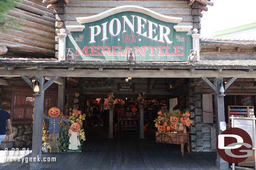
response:
[[[202,11],[201,38],[220,30],[256,23],[256,0],[211,0],[208,11]]]

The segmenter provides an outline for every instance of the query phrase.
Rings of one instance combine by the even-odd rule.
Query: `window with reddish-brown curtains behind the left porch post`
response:
[[[34,114],[34,96],[26,93],[13,93],[13,122],[32,121]],[[44,114],[51,107],[57,107],[57,95],[44,95]]]

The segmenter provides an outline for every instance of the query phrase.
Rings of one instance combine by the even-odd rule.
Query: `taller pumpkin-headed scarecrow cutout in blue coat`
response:
[[[49,145],[52,150],[57,150],[60,145],[60,109],[52,107],[48,111],[49,116],[44,116],[44,119],[49,119]],[[65,122],[70,122],[68,119],[64,119]]]

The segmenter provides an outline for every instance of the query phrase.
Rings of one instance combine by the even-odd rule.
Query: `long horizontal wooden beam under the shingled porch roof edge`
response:
[[[118,74],[116,74],[118,73]],[[60,76],[60,77],[134,77],[134,78],[201,78],[201,77],[223,77],[230,78],[234,75],[237,78],[255,78],[256,70],[253,72],[243,70],[222,70],[217,72],[214,70],[198,70],[191,72],[188,70],[167,70],[160,72],[152,69],[134,70],[132,73],[127,69],[106,69],[99,74],[98,69],[75,69],[74,71],[68,71],[68,69],[44,69],[38,71],[37,69],[14,69],[7,71],[0,69],[1,77],[17,77],[17,76]]]

